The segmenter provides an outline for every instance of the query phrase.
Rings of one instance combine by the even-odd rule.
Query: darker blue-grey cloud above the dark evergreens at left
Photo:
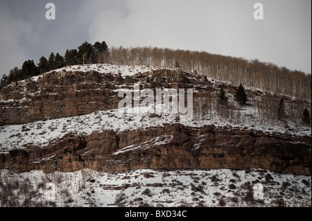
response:
[[[46,20],[46,3],[55,3],[55,20]],[[87,41],[92,19],[85,15],[81,0],[0,1],[0,76],[25,60],[35,63],[44,55],[77,48]]]

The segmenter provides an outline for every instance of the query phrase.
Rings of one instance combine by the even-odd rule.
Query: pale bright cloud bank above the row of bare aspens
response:
[[[95,12],[89,39],[114,46],[159,46],[208,51],[311,73],[311,1],[263,0],[264,20],[253,1],[131,0]],[[101,8],[101,1],[96,1]]]

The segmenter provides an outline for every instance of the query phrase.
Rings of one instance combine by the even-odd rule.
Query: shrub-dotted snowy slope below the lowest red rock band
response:
[[[311,177],[266,170],[1,170],[0,178],[0,206],[311,206]]]

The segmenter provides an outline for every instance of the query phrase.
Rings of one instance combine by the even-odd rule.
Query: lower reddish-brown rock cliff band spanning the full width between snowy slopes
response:
[[[91,168],[125,171],[142,168],[244,170],[262,168],[281,173],[311,175],[311,139],[205,126],[169,125],[148,130],[66,134],[46,148],[0,154],[0,168],[17,173],[29,170],[64,172]]]

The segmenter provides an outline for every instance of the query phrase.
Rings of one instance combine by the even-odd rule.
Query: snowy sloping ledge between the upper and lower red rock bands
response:
[[[58,139],[69,132],[73,134],[89,135],[93,132],[103,130],[114,130],[123,132],[125,130],[145,129],[147,127],[157,127],[174,123],[182,123],[189,127],[201,127],[203,125],[214,125],[216,127],[244,128],[244,130],[259,130],[262,132],[279,132],[299,136],[311,136],[311,127],[292,127],[293,130],[287,130],[282,123],[277,122],[275,126],[257,123],[257,120],[250,120],[246,124],[246,118],[250,116],[252,107],[246,107],[241,112],[241,122],[229,123],[227,119],[222,118],[218,112],[209,113],[209,118],[203,118],[197,121],[176,120],[178,114],[168,113],[161,114],[159,117],[151,118],[149,114],[139,113],[133,109],[133,114],[128,113],[125,109],[111,109],[108,111],[98,111],[83,116],[73,116],[69,118],[52,119],[46,121],[36,121],[24,125],[6,125],[0,127],[0,153],[8,152],[12,148],[26,148],[26,144],[33,143],[37,146],[46,147],[50,141]],[[253,116],[253,118],[257,118]]]

